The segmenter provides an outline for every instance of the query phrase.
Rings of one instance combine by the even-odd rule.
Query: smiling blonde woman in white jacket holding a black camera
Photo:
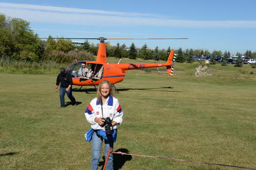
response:
[[[91,123],[91,129],[84,135],[87,141],[92,140],[91,168],[98,169],[100,151],[104,139],[105,159],[109,149],[113,150],[117,136],[117,125],[122,123],[122,108],[114,98],[113,85],[108,80],[103,80],[97,89],[97,98],[94,98],[87,107],[87,121]],[[103,118],[110,117],[112,135],[106,135]],[[113,169],[113,154],[110,154],[105,169]]]

